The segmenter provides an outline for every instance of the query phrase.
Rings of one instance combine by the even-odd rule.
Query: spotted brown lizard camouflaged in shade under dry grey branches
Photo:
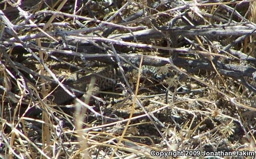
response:
[[[132,67],[131,66],[124,66],[123,67],[126,72],[131,72]],[[98,91],[101,90],[107,90],[110,88],[113,88],[113,85],[115,84],[115,80],[117,79],[117,76],[120,75],[119,69],[117,69],[118,72],[115,72],[112,67],[105,67],[104,69],[101,69],[100,71],[95,72],[95,74],[88,74],[86,76],[82,76],[76,80],[66,80],[64,82],[65,85],[74,88],[75,90],[79,90],[81,92],[86,92],[88,84],[91,81],[91,78],[95,78],[95,84],[94,87],[97,87]],[[153,66],[143,66],[141,70],[143,75],[154,77],[157,80],[162,80],[163,76],[165,75],[158,75],[157,74],[157,68]],[[72,78],[72,77],[70,77]],[[79,93],[77,91],[73,91],[75,96],[79,97],[82,96],[83,93]],[[53,101],[53,103],[57,105],[63,105],[67,103],[68,101],[72,100],[72,97],[65,92],[61,87],[58,87],[52,94],[50,100]]]

